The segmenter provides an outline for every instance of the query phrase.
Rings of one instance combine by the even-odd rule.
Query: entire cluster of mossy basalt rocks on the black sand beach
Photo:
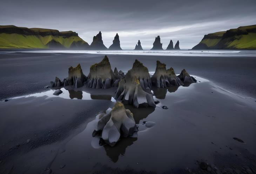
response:
[[[124,108],[124,104],[139,107],[155,107],[159,101],[154,101],[151,93],[152,86],[157,88],[167,88],[169,86],[180,86],[184,83],[195,83],[194,77],[190,76],[185,69],[180,75],[174,73],[170,67],[166,69],[166,64],[156,62],[156,70],[150,77],[148,68],[139,60],[135,60],[132,69],[126,74],[123,71],[114,72],[111,68],[108,57],[105,55],[103,60],[90,66],[88,77],[83,74],[80,64],[77,67],[69,67],[68,77],[61,81],[58,77],[48,87],[60,88],[61,86],[73,85],[73,88],[80,88],[83,85],[88,88],[107,89],[118,87],[114,98],[117,100],[111,111],[99,115],[94,136],[99,135],[105,143],[114,146],[119,141],[120,136],[131,136],[137,127],[133,114]],[[54,94],[61,94],[61,90],[56,90]],[[162,106],[168,109],[167,106]]]

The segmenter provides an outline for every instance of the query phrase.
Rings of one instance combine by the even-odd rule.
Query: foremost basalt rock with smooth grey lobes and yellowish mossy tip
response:
[[[99,121],[93,136],[101,136],[105,143],[114,146],[121,136],[132,136],[137,130],[133,113],[125,109],[121,102],[116,102],[112,110],[97,115]]]

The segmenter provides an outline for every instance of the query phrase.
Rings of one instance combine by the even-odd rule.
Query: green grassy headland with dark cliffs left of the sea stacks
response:
[[[73,31],[0,25],[0,48],[88,49],[89,44]]]

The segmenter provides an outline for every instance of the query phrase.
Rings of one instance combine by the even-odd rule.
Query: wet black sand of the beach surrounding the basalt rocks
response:
[[[93,59],[84,60],[82,56]],[[167,67],[172,63],[176,74],[179,72],[179,67],[186,68],[189,73],[191,72],[190,74],[196,75],[197,81],[200,82],[179,88],[153,88],[154,99],[160,101],[156,108],[135,109],[126,105],[126,108],[134,113],[137,124],[143,124],[143,121],[151,121],[156,124],[151,128],[139,131],[138,137],[122,138],[116,146],[110,147],[108,145],[97,146],[99,140],[92,137],[92,133],[95,128],[96,114],[113,107],[115,101],[111,96],[113,96],[115,88],[107,90],[86,87],[77,90],[67,88],[66,90],[62,89],[63,93],[58,97],[50,95],[53,91],[48,92],[48,89],[42,88],[49,84],[49,81],[53,80],[55,76],[66,77],[68,62],[72,62],[72,65],[75,66],[79,60],[83,60],[81,66],[84,74],[87,75],[89,65],[100,60],[101,55],[62,57],[63,62],[59,62],[60,65],[53,57],[42,58],[43,60],[31,59],[29,67],[33,67],[35,64],[40,64],[41,68],[47,65],[51,67],[46,72],[41,69],[41,75],[47,77],[47,83],[39,82],[32,89],[23,89],[19,86],[15,88],[14,86],[16,91],[20,90],[18,92],[20,95],[11,94],[8,98],[24,97],[12,98],[7,102],[1,101],[0,173],[49,173],[50,171],[55,174],[217,173],[213,170],[215,166],[221,173],[230,170],[232,172],[239,170],[245,173],[247,167],[250,167],[252,172],[256,172],[256,100],[255,94],[249,95],[253,90],[250,88],[255,87],[254,83],[256,82],[249,85],[249,78],[246,78],[247,83],[244,82],[244,85],[248,84],[248,88],[245,88],[245,92],[240,93],[249,97],[237,94],[245,78],[231,76],[235,72],[226,71],[231,69],[229,66],[235,66],[236,63],[231,65],[227,63],[228,68],[220,68],[222,76],[230,76],[227,78],[229,84],[223,82],[223,85],[220,85],[222,81],[218,80],[219,72],[212,71],[206,74],[204,68],[201,67],[198,70],[193,66],[191,58],[191,60],[181,58],[178,63],[178,58],[169,58],[169,60],[160,56],[157,58],[149,56],[146,61],[144,56],[136,56],[144,65],[148,66],[150,71],[154,71],[155,61],[160,60],[165,62]],[[118,56],[109,55],[108,57],[112,69],[114,69],[117,66],[115,61]],[[123,55],[119,56],[121,60],[118,61],[124,61],[126,58]],[[51,59],[54,59],[55,66],[50,65],[50,62],[47,63]],[[135,57],[129,57],[126,59],[126,63],[119,64],[117,68],[127,71],[132,67],[134,59]],[[205,59],[202,61],[204,62]],[[223,62],[231,61],[228,59]],[[238,62],[242,61],[241,59],[237,60],[236,58]],[[190,66],[188,66],[188,62],[184,63],[182,60],[188,60]],[[248,60],[253,61],[249,58]],[[217,60],[209,60],[209,62],[211,61]],[[4,67],[2,64],[1,66]],[[8,66],[5,64],[5,68]],[[62,68],[61,66],[67,67]],[[18,69],[29,71],[23,67],[22,61],[20,65],[14,67],[13,69],[18,67]],[[255,71],[249,65],[248,67],[243,67],[247,69],[245,73]],[[237,68],[236,71],[241,71],[243,68]],[[4,76],[7,76],[8,73],[4,72]],[[14,70],[12,73],[15,72],[18,74],[18,70]],[[213,80],[210,77],[202,78],[208,75],[218,77],[214,77]],[[251,76],[252,74],[245,75]],[[33,78],[34,76],[36,77],[36,74],[33,75]],[[26,79],[25,75],[23,78]],[[251,78],[249,81],[253,81],[253,79]],[[24,80],[19,82],[24,83]],[[235,86],[238,82],[240,87]],[[229,85],[233,86],[231,92],[227,90]],[[45,92],[39,93],[40,91]],[[1,93],[1,97],[3,96]],[[162,109],[162,106],[169,108]],[[234,137],[242,139],[244,143],[237,141]],[[212,171],[202,170],[199,166],[201,161],[211,164]]]

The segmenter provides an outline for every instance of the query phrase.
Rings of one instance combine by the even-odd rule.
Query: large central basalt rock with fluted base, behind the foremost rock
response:
[[[148,68],[135,60],[133,68],[120,80],[115,99],[134,107],[155,107],[153,96],[143,89],[151,89]]]

